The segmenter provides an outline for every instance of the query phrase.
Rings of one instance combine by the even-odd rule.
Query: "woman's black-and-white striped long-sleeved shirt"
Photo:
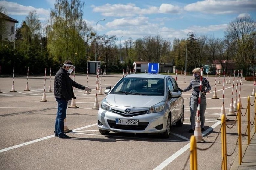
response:
[[[206,89],[205,89],[205,87],[206,87]],[[187,92],[187,91],[191,90],[192,88],[193,88],[192,95],[194,95],[194,96],[196,96],[196,97],[199,97],[200,76],[195,77],[195,80],[192,79],[192,80],[190,81],[188,87],[185,88],[185,89],[183,89],[183,92]],[[205,94],[206,94],[207,92],[209,92],[210,90],[211,90],[211,86],[210,86],[208,80],[203,77],[201,92],[205,92],[205,93],[201,94],[201,97],[204,97]]]

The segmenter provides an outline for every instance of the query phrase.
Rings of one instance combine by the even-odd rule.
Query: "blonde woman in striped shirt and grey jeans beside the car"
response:
[[[192,71],[193,79],[190,81],[190,84],[187,88],[183,89],[182,92],[187,92],[193,88],[192,95],[190,97],[189,107],[190,107],[190,123],[191,129],[188,131],[189,133],[194,133],[195,130],[195,117],[197,114],[198,107],[198,98],[199,98],[199,90],[200,90],[200,75],[201,69],[195,68]],[[200,103],[200,120],[201,120],[201,130],[205,131],[204,122],[205,116],[204,112],[206,109],[206,97],[205,94],[211,90],[211,86],[206,78],[202,79],[202,89],[201,89],[201,103]]]

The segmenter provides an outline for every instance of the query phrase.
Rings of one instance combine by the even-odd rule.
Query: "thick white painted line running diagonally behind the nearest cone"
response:
[[[202,136],[205,136],[207,133],[209,133],[212,129],[214,129],[215,127],[217,127],[219,124],[221,123],[221,121],[216,122],[215,124],[213,124],[210,128],[208,128],[205,132],[202,133]],[[169,163],[171,163],[173,160],[175,160],[178,156],[180,156],[181,154],[183,154],[185,151],[187,151],[190,148],[190,142],[185,145],[183,148],[181,148],[180,150],[178,150],[177,152],[175,152],[172,156],[170,156],[169,158],[167,158],[165,161],[163,161],[160,165],[158,165],[156,168],[154,168],[153,170],[162,170],[164,167],[166,167],[167,165],[169,165]]]

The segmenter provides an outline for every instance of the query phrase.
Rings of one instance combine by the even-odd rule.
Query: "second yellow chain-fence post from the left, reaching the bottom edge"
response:
[[[227,138],[226,138],[226,118],[225,115],[221,117],[221,142],[222,142],[222,169],[227,170]]]

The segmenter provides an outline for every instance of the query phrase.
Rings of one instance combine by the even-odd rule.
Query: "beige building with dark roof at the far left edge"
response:
[[[18,23],[17,20],[3,14],[0,12],[1,21],[1,35],[0,40],[14,42],[15,39],[15,24]]]

